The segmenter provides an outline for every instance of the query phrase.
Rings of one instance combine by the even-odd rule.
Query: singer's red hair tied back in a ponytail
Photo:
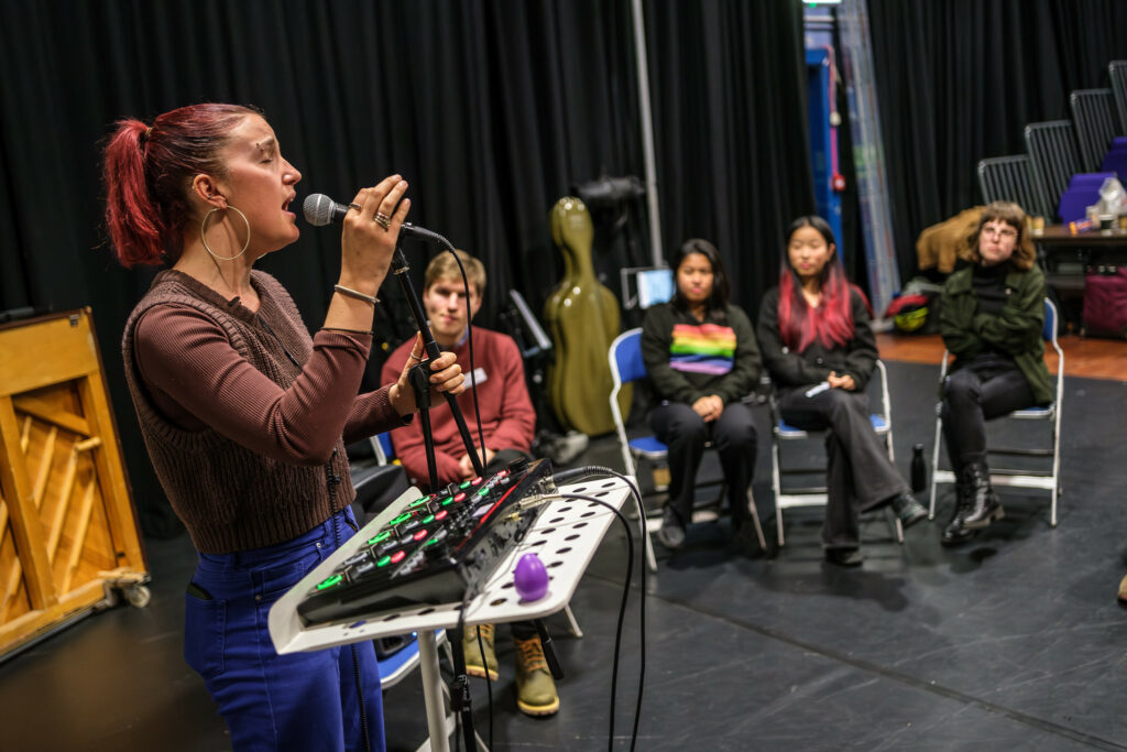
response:
[[[152,127],[123,120],[106,144],[106,228],[122,266],[175,260],[201,174],[225,174],[221,154],[250,107],[205,103],[158,115]]]

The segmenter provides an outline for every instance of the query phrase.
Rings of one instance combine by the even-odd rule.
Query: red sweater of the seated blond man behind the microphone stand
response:
[[[415,339],[400,345],[383,364],[382,381],[396,381],[407,363]],[[458,363],[467,374],[467,386],[470,382],[470,348],[463,342],[454,348]],[[481,409],[481,430],[485,433],[486,448],[494,451],[518,449],[527,452],[532,446],[535,433],[536,414],[529,398],[529,389],[524,383],[524,365],[521,352],[513,338],[473,327],[473,365],[481,374],[477,387],[478,405]],[[465,416],[465,424],[478,444],[477,422],[473,415],[473,395],[467,389],[459,395],[458,404]],[[447,484],[460,480],[458,460],[465,454],[465,446],[458,433],[458,424],[450,412],[445,399],[431,406],[431,425],[434,431],[435,462],[438,468],[438,483]],[[396,431],[391,435],[396,455],[403,463],[407,475],[423,481],[429,478],[426,467],[426,450],[423,445],[423,424],[415,421],[409,426]]]

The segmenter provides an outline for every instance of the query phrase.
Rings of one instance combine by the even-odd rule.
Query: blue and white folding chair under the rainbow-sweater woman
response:
[[[641,360],[641,328],[623,331],[611,343],[607,360],[611,365],[611,415],[614,418],[614,431],[618,434],[619,448],[622,451],[622,465],[627,469],[627,475],[637,477],[637,459],[645,459],[649,462],[664,462],[668,450],[656,436],[627,436],[625,423],[622,419],[622,410],[619,409],[619,392],[622,384],[646,378],[646,364]],[[725,486],[720,488],[720,499],[724,499]],[[758,536],[760,546],[766,550],[766,539],[763,537],[763,527],[760,524],[760,513],[755,508],[755,499],[752,497],[752,489],[747,489],[747,508],[752,513],[752,522],[755,524],[755,533]],[[638,513],[646,520],[646,510],[639,504]],[[696,513],[693,515],[696,520]],[[657,572],[657,558],[654,556],[654,541],[650,533],[660,529],[659,519],[646,520],[646,561],[649,568]]]

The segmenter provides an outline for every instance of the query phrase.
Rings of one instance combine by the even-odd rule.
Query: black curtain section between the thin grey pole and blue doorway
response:
[[[814,211],[798,2],[646,3],[662,235],[720,250],[754,320],[783,231]]]

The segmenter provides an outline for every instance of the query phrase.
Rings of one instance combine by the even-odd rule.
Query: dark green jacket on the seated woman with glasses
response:
[[[1045,275],[1038,267],[1011,267],[1005,275],[1006,301],[1001,315],[978,312],[971,275],[966,266],[947,277],[939,312],[943,344],[959,361],[968,361],[995,347],[1009,353],[1018,364],[1038,405],[1048,405],[1055,395],[1045,368]]]

